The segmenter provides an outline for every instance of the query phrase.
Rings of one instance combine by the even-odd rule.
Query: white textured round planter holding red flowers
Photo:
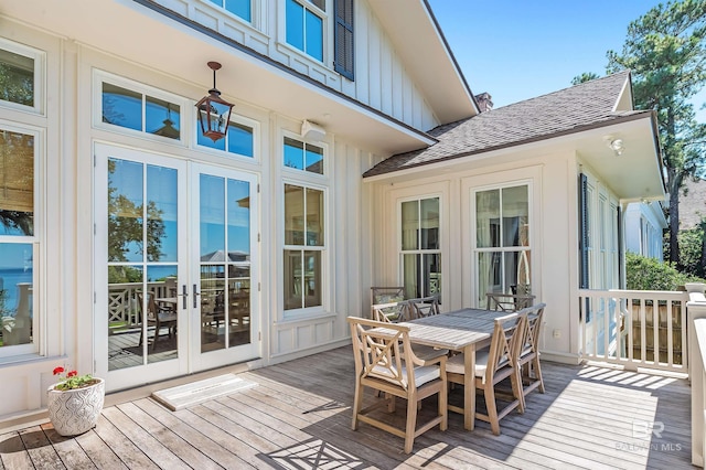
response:
[[[103,378],[95,377],[96,384],[71,391],[46,391],[49,417],[54,429],[62,436],[75,436],[93,429],[98,423],[106,384]]]

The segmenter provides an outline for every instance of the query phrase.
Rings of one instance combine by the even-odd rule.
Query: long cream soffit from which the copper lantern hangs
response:
[[[203,94],[212,85],[206,62],[221,62],[218,88],[226,99],[319,122],[329,132],[383,156],[434,141],[318,82],[292,75],[282,65],[265,62],[133,0],[12,1],[3,3],[0,14],[179,77]]]

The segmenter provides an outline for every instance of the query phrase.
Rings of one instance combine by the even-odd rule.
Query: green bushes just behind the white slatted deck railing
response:
[[[703,280],[677,271],[672,263],[634,253],[625,254],[625,288],[628,290],[677,290],[686,282],[703,282]]]

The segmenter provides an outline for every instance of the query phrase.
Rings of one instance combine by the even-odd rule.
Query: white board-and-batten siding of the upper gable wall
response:
[[[354,4],[353,82],[333,71],[332,40],[324,40],[323,63],[287,44],[284,0],[255,1],[253,24],[208,0],[161,0],[159,3],[416,129],[429,130],[440,124],[365,0],[356,0]],[[327,4],[327,14],[324,30],[332,39],[332,1]]]

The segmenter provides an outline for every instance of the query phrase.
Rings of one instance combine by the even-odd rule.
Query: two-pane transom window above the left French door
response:
[[[181,140],[181,106],[104,81],[101,121],[168,139]]]

